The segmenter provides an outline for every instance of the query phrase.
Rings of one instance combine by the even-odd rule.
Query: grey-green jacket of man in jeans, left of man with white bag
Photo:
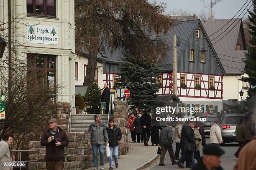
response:
[[[100,145],[104,142],[108,142],[108,133],[105,124],[100,123],[98,126],[96,121],[90,124],[87,133],[87,141],[91,142],[93,145]]]

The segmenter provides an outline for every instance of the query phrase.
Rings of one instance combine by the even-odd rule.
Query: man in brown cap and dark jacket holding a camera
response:
[[[69,144],[67,134],[58,126],[55,118],[49,120],[49,128],[44,132],[41,145],[46,146],[46,169],[61,170],[64,161],[64,147]]]

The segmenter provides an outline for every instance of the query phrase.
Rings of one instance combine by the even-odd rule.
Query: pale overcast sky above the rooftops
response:
[[[169,13],[169,11],[172,11],[175,9],[179,10],[179,8],[182,8],[184,10],[192,10],[195,14],[200,13],[201,10],[205,10],[207,13],[210,11],[210,7],[209,7],[210,0],[204,0],[204,2],[201,0],[157,0],[157,1],[159,2],[162,1],[166,3],[166,11],[165,11],[166,13]],[[221,2],[218,2],[216,5],[213,6],[213,11],[215,12],[215,18],[217,19],[232,18],[246,1],[247,0],[222,0]],[[250,6],[251,5],[249,5],[248,7]],[[241,16],[243,16],[243,14]],[[247,17],[247,15],[245,15],[245,17]]]

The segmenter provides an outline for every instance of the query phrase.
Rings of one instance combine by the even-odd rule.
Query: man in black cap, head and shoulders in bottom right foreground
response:
[[[225,152],[218,145],[206,145],[203,149],[204,156],[191,170],[223,170],[220,166],[221,158]]]

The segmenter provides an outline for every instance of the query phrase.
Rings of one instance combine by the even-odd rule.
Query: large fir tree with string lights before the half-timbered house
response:
[[[131,92],[131,104],[140,109],[150,108],[150,103],[157,97],[159,92],[159,84],[156,83],[155,77],[157,69],[153,64],[146,60],[145,56],[141,56],[140,60],[135,60],[135,57],[129,53],[124,53],[122,68],[118,74],[120,78],[119,85],[124,86],[123,78],[127,77],[128,83],[126,88]]]

